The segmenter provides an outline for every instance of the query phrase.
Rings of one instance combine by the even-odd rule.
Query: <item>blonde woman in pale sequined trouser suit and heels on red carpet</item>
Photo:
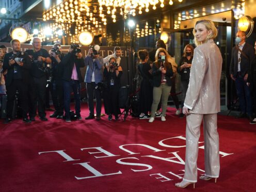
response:
[[[183,181],[177,187],[197,182],[197,157],[200,125],[203,120],[205,174],[201,180],[219,177],[219,136],[217,113],[220,111],[222,57],[213,39],[217,29],[210,20],[199,20],[193,30],[195,43],[189,85],[184,101],[186,115],[186,157]]]

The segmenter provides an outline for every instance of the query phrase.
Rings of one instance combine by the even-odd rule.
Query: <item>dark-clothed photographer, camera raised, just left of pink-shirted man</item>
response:
[[[63,94],[63,65],[61,60],[64,57],[64,54],[61,53],[61,45],[55,43],[50,50],[50,56],[52,60],[51,64],[51,86],[50,91],[52,93],[54,113],[50,115],[51,118],[63,119],[63,108],[64,108],[64,94]]]

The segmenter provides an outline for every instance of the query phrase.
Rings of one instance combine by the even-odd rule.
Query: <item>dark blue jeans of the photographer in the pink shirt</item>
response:
[[[70,98],[71,91],[74,93],[75,98],[75,114],[80,115],[81,104],[80,104],[80,90],[81,85],[77,80],[63,81],[63,91],[64,91],[64,109],[66,118],[70,118]]]

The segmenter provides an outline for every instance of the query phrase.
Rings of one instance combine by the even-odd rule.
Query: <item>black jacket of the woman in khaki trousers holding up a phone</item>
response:
[[[159,70],[159,68],[156,67],[155,62],[153,62],[153,66],[152,66],[152,75],[153,75],[153,87],[159,87],[162,81],[162,72]],[[173,75],[171,64],[170,64],[170,68],[167,67],[165,75],[166,75],[167,85],[171,86],[171,77]]]

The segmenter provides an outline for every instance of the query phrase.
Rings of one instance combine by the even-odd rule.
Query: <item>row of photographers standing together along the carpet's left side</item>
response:
[[[88,55],[83,58],[79,46],[72,44],[67,54],[61,52],[61,45],[55,43],[47,52],[42,49],[40,38],[35,37],[33,49],[21,51],[20,41],[11,40],[12,51],[0,49],[1,66],[1,95],[7,95],[7,113],[4,123],[13,120],[13,105],[17,92],[19,105],[22,110],[23,122],[36,120],[38,112],[41,121],[47,121],[45,113],[46,91],[52,95],[54,113],[50,118],[72,118],[82,120],[81,117],[81,83],[86,83],[89,116],[94,119],[94,103],[96,98],[96,120],[101,119],[101,100],[104,98],[105,113],[108,119],[112,115],[118,120],[118,91],[121,87],[120,77],[122,68],[119,66],[121,48],[116,46],[114,54],[102,58],[98,51],[90,47]],[[86,75],[82,76],[81,68],[86,66]],[[104,91],[102,92],[102,84]],[[103,94],[102,94],[103,93]],[[49,93],[48,93],[49,94]],[[75,112],[70,110],[71,94],[74,95]]]

